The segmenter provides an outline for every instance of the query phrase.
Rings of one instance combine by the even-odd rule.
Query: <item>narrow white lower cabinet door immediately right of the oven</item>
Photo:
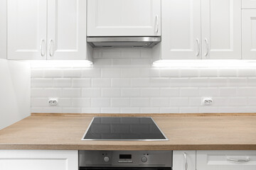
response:
[[[196,151],[174,151],[173,170],[196,170]]]

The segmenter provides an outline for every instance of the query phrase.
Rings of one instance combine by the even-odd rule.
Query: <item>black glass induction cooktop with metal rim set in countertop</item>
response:
[[[95,117],[82,140],[168,140],[153,118]]]

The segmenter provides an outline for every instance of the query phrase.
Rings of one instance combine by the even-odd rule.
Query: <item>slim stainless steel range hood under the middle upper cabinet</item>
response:
[[[92,47],[154,47],[161,37],[87,37]]]

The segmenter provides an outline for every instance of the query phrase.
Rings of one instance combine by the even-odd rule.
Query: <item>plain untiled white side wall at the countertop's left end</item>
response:
[[[30,115],[30,79],[30,64],[0,60],[0,130]]]

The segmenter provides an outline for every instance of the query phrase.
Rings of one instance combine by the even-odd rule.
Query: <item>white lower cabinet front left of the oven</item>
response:
[[[78,170],[78,151],[0,150],[3,170]]]

